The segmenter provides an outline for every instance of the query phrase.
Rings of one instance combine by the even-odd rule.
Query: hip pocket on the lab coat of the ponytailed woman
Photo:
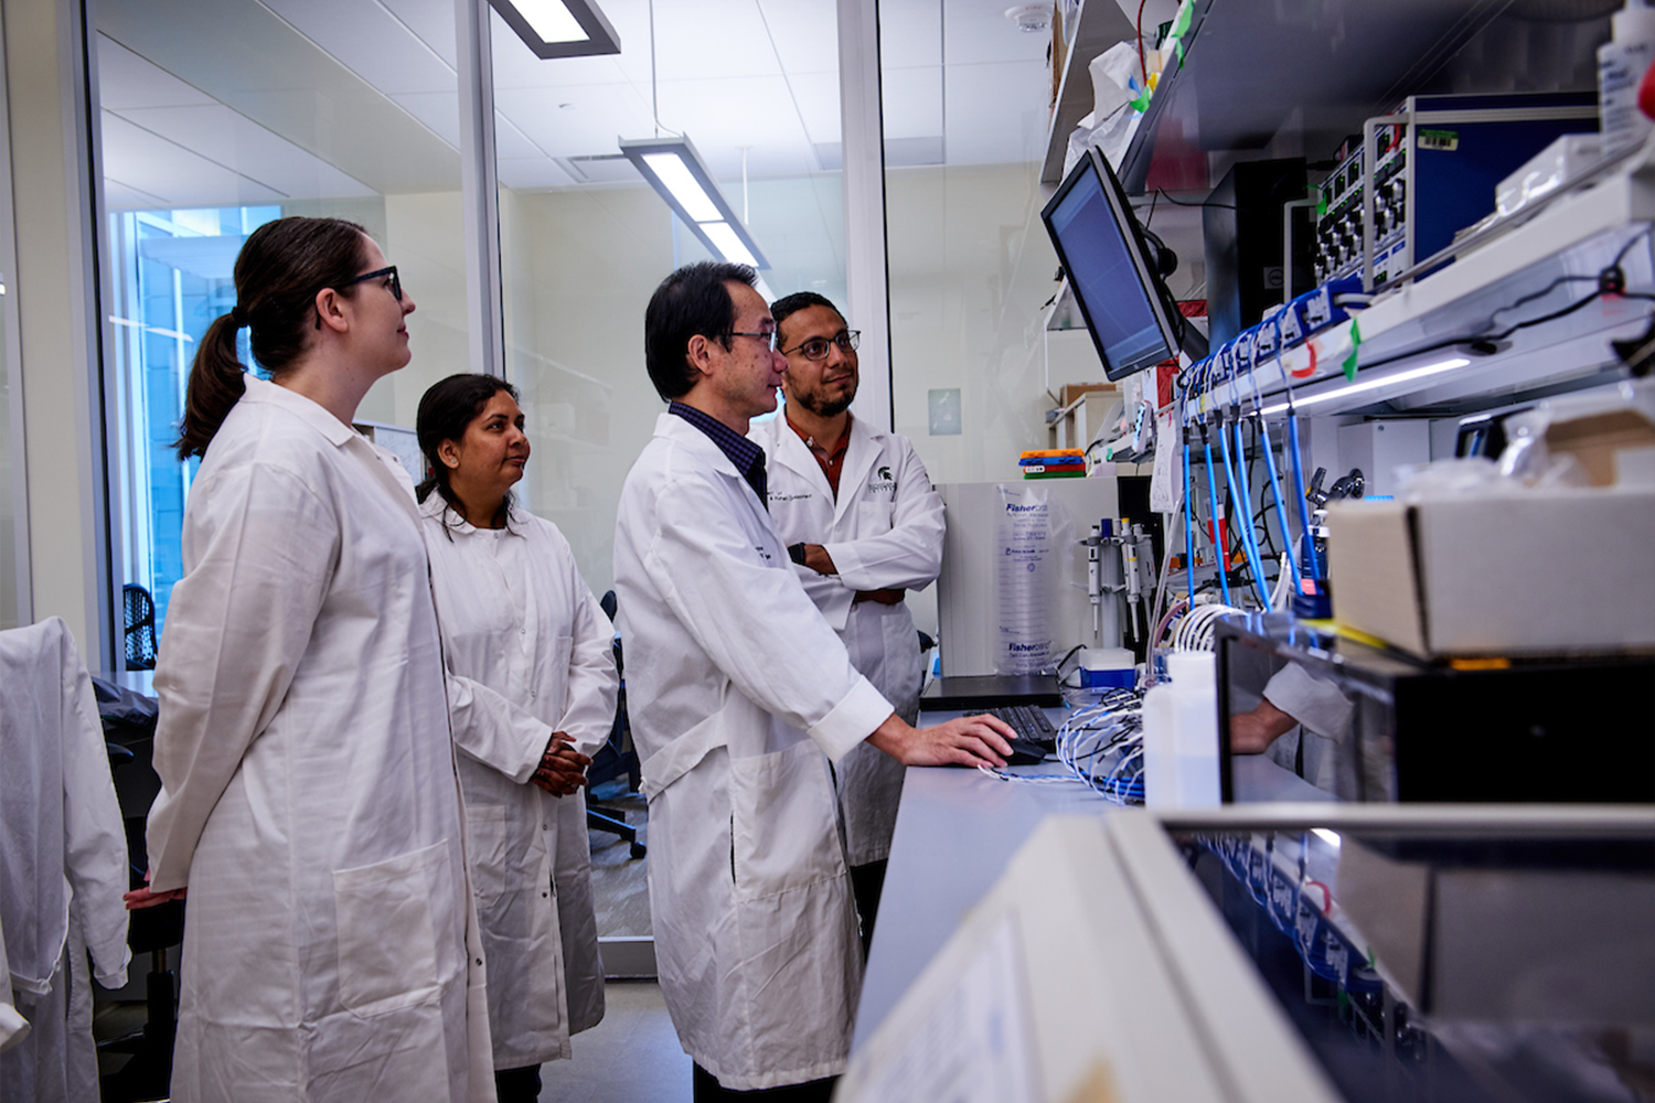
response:
[[[381,1015],[437,999],[434,891],[452,886],[449,842],[386,862],[334,870],[339,923],[339,1002]]]

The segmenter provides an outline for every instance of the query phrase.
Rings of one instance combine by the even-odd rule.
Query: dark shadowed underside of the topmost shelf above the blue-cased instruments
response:
[[[1364,119],[1410,94],[1590,89],[1592,51],[1617,7],[1547,15],[1490,0],[1198,0],[1183,66],[1162,76],[1120,180],[1132,193],[1205,192],[1210,154],[1326,160]],[[1048,167],[1053,152],[1061,169],[1061,149],[1048,150]]]

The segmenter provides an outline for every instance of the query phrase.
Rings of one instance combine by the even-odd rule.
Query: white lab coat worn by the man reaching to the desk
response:
[[[816,612],[753,489],[672,413],[621,489],[616,595],[679,1040],[733,1090],[837,1075],[862,949],[828,762],[890,703]]]

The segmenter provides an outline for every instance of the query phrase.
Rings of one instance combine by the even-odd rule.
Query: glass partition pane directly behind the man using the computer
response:
[[[569,539],[594,594],[614,584],[621,483],[665,410],[644,370],[644,308],[674,268],[713,260],[619,141],[695,146],[768,261],[766,298],[844,303],[846,283],[834,0],[602,8],[621,53],[551,61],[490,13],[505,374],[533,446],[520,499]],[[645,812],[624,776],[591,799],[632,825]],[[647,858],[591,838],[604,961],[627,971],[621,941],[650,936]]]

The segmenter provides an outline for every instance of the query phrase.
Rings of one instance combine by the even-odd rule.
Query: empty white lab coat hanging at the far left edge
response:
[[[56,617],[0,632],[0,1039],[33,1027],[0,1045],[0,1101],[98,1098],[86,953],[99,984],[126,984],[129,870],[74,637]]]

